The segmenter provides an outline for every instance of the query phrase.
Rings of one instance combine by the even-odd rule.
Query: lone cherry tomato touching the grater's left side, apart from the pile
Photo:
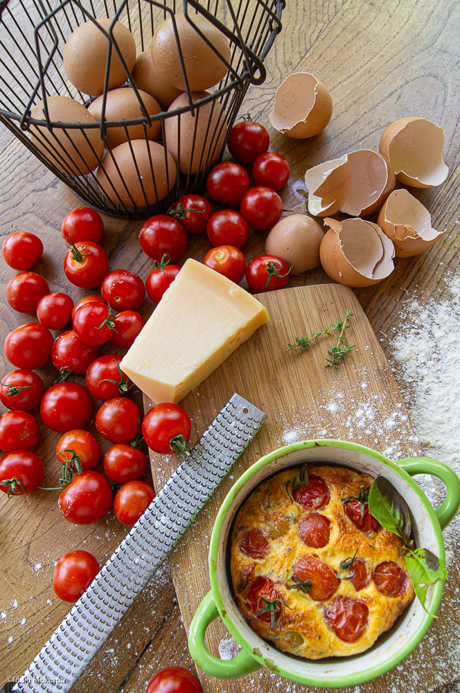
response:
[[[75,604],[91,585],[100,570],[89,551],[68,551],[57,561],[53,571],[53,590],[62,602]]]

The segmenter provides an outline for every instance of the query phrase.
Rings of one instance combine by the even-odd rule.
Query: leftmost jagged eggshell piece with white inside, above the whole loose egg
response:
[[[313,216],[335,214],[351,190],[351,165],[348,155],[313,166],[305,174],[308,211]]]

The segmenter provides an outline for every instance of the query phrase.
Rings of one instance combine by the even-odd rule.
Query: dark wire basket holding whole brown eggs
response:
[[[285,0],[214,0],[213,2],[206,0],[202,3],[197,0],[183,0],[179,3],[175,0],[64,0],[53,8],[51,0],[2,0],[0,1],[0,121],[57,177],[72,188],[80,200],[113,216],[132,219],[148,217],[152,213],[168,208],[179,195],[200,191],[203,188],[209,169],[222,157],[229,130],[236,119],[247,88],[251,83],[261,84],[265,80],[263,60],[281,30],[281,11],[284,4]],[[175,26],[176,12],[184,12],[188,24],[191,24],[213,52],[220,56],[228,71],[208,96],[199,100],[196,100],[196,97],[193,98],[184,69],[181,45],[175,30],[185,83],[186,105],[172,111],[161,111],[152,116],[143,104],[112,31],[116,20],[125,24],[134,35],[138,52],[139,47],[141,51],[145,51],[150,46],[155,28],[163,19],[172,17]],[[197,15],[204,16],[225,35],[231,49],[230,61],[224,58],[197,28],[195,25]],[[96,17],[113,19],[107,31],[96,24],[94,21]],[[63,64],[64,44],[69,35],[80,24],[87,21],[96,24],[108,41],[103,115],[100,121],[91,123],[52,121],[48,112],[48,98],[51,96],[67,96],[85,107],[94,100],[73,87],[67,78]],[[132,87],[139,100],[142,113],[139,118],[123,121],[105,119],[107,73],[112,51],[116,51],[125,69],[125,86]],[[35,119],[31,117],[30,112],[40,101],[43,101],[44,119]],[[195,152],[193,150],[195,138],[193,138],[191,153],[192,155],[195,153],[195,166],[191,166],[191,163],[187,169],[182,166],[182,172],[178,167],[177,178],[175,182],[170,182],[170,189],[168,190],[167,186],[166,193],[159,193],[159,169],[157,168],[156,178],[150,145],[148,145],[147,128],[156,121],[159,121],[161,125],[159,142],[164,147],[164,166],[168,178],[174,166],[174,160],[168,156],[167,151],[172,149],[175,161],[182,161],[181,146],[184,151],[184,143],[181,143],[180,136],[181,119],[193,118],[191,123],[195,123],[196,132],[200,113],[202,119],[206,119],[206,133],[204,143]],[[177,118],[177,141],[174,143],[171,139],[168,141],[166,134],[168,130],[166,121],[170,118]],[[148,176],[152,179],[152,193],[146,193],[145,172],[139,170],[132,146],[134,140],[130,138],[130,132],[127,130],[130,125],[140,123],[143,127],[144,139],[141,145],[138,141],[134,148],[143,146],[148,152],[150,164]],[[136,177],[134,184],[137,189],[136,195],[133,193],[133,184],[127,184],[127,175],[123,176],[113,155],[113,149],[107,142],[107,132],[115,127],[125,130],[125,139],[130,148],[128,157],[131,157],[130,164],[132,164],[131,168],[134,166]],[[95,130],[98,130],[98,135],[103,140],[105,158],[103,153],[96,151],[91,143],[94,139],[90,138],[94,138]],[[77,141],[76,131],[80,143],[87,143],[91,161],[86,161],[85,155],[81,154],[82,150],[76,143],[74,144],[73,138],[75,142]],[[34,139],[31,133],[34,134]],[[79,154],[72,155],[72,152],[76,152],[77,149]],[[197,157],[198,164],[196,164]],[[100,173],[99,177],[96,177],[96,167]],[[112,177],[109,173],[101,175],[101,172],[108,170],[107,167],[112,171]],[[174,177],[173,173],[171,177]],[[113,183],[115,178],[118,183],[118,194]],[[123,195],[119,192],[120,186],[122,186]],[[161,199],[164,194],[166,197]]]

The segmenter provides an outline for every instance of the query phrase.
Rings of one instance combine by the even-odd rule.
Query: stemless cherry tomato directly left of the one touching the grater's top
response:
[[[96,413],[96,428],[112,443],[129,443],[141,430],[142,414],[127,397],[113,397]]]

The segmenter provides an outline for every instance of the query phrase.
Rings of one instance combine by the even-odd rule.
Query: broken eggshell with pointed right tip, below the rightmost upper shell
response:
[[[399,258],[423,253],[445,233],[432,228],[430,212],[405,188],[391,193],[380,210],[378,225]]]

